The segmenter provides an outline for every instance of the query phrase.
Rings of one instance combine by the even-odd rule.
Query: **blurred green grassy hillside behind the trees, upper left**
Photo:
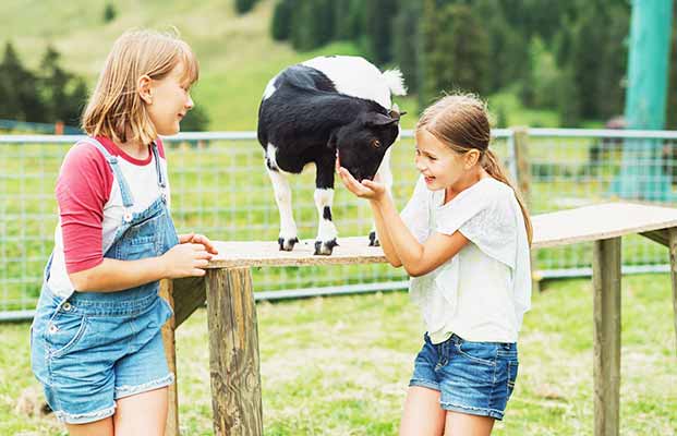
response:
[[[36,69],[48,44],[62,56],[62,65],[87,78],[92,86],[112,41],[125,29],[176,26],[195,50],[201,81],[193,97],[210,119],[210,130],[253,130],[267,81],[286,65],[317,55],[358,55],[351,44],[334,44],[298,53],[268,36],[273,0],[238,16],[232,0],[116,1],[117,16],[104,23],[105,2],[73,0],[5,0],[0,14],[0,44],[11,40],[22,61]],[[27,5],[28,4],[28,5]],[[413,100],[400,101],[409,110]],[[415,110],[410,113],[415,113]],[[413,122],[413,117],[408,124]],[[404,124],[408,126],[407,124]]]

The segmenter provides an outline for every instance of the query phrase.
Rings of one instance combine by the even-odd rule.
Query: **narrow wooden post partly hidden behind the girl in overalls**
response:
[[[160,296],[165,299],[172,310],[174,310],[173,289],[171,280],[160,280]],[[174,339],[174,330],[177,326],[174,316],[169,318],[162,326],[162,343],[165,346],[165,356],[169,371],[174,374],[174,383],[169,386],[169,408],[167,411],[167,426],[165,434],[167,436],[179,436],[179,376],[177,374],[177,346]]]

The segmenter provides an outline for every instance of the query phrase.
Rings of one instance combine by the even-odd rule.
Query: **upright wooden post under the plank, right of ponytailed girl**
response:
[[[618,435],[620,396],[620,238],[594,243],[594,434]]]

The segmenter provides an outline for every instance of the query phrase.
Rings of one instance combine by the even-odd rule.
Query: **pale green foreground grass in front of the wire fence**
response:
[[[327,268],[330,269],[330,268]],[[625,277],[620,433],[675,435],[677,366],[667,275]],[[592,286],[549,281],[520,339],[520,370],[497,435],[592,435]],[[267,436],[395,435],[421,346],[403,292],[259,303]],[[207,323],[197,311],[177,334],[181,426],[210,435]],[[0,434],[57,435],[53,417],[16,411],[29,371],[28,325],[1,325]],[[39,403],[39,395],[25,395]],[[22,401],[23,402],[23,401]]]

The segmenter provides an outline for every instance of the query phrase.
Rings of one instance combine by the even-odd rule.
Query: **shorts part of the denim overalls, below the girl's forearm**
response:
[[[171,315],[157,292],[75,292],[64,300],[45,286],[31,361],[57,419],[102,420],[117,399],[171,385],[160,332]]]

